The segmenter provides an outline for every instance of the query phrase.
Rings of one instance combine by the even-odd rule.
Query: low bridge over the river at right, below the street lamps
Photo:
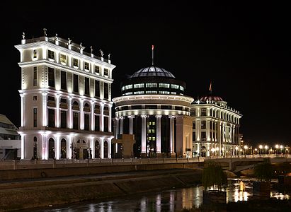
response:
[[[291,163],[291,155],[240,155],[232,157],[210,157],[205,158],[204,161],[215,161],[219,163],[224,169],[232,172],[240,172],[247,170],[261,163],[264,158],[270,158],[270,163]]]

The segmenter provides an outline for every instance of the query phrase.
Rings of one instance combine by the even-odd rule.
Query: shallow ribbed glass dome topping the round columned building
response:
[[[139,71],[135,72],[130,76],[130,78],[140,77],[140,76],[164,76],[164,77],[170,77],[175,78],[173,74],[169,71],[166,71],[163,68],[159,68],[156,66],[149,66],[146,68],[142,68]]]

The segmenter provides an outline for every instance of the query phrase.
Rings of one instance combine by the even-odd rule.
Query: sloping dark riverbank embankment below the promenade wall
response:
[[[189,187],[200,183],[201,176],[202,170],[193,168],[6,182],[0,184],[0,211]]]

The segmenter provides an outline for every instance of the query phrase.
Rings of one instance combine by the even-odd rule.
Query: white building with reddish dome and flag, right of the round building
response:
[[[193,117],[193,156],[236,155],[239,143],[239,111],[210,94],[190,105]]]

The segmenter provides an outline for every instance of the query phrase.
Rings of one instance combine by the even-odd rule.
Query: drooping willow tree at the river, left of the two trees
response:
[[[213,189],[219,191],[227,187],[227,174],[219,163],[211,160],[205,163],[202,172],[202,186],[205,190],[213,187]]]

